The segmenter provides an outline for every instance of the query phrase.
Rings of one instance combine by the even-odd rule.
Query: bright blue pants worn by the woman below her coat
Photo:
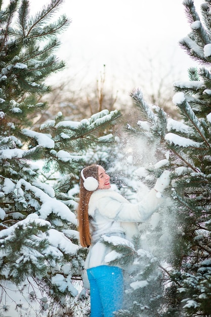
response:
[[[101,265],[87,270],[90,281],[90,317],[113,317],[122,308],[123,274],[117,266]]]

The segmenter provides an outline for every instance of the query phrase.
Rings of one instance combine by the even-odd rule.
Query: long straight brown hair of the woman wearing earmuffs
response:
[[[98,181],[98,168],[96,164],[90,165],[83,169],[83,176],[85,178],[92,176]],[[80,177],[80,191],[79,191],[79,203],[77,208],[77,218],[78,218],[78,231],[79,239],[82,247],[89,247],[91,245],[91,233],[90,233],[90,223],[88,207],[90,197],[93,191],[88,191],[83,187],[83,179]]]

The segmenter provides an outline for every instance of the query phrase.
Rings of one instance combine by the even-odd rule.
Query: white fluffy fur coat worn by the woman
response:
[[[151,190],[145,200],[131,204],[111,189],[98,189],[90,197],[89,216],[92,245],[85,261],[85,268],[108,265],[106,255],[111,252],[100,240],[102,235],[117,235],[131,240],[138,234],[138,222],[149,219],[159,206],[156,191]]]

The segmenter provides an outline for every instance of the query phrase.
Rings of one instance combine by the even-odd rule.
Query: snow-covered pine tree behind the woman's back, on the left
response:
[[[86,164],[86,153],[111,144],[106,127],[120,116],[103,110],[80,122],[65,121],[62,113],[32,131],[30,118],[40,109],[40,96],[51,91],[46,78],[62,70],[54,55],[58,34],[69,19],[54,15],[62,0],[52,0],[34,16],[28,0],[1,7],[0,74],[0,309],[11,300],[8,286],[20,294],[28,290],[31,301],[40,303],[40,313],[51,303],[67,307],[77,295],[86,249],[78,245],[75,208],[71,189]],[[2,6],[2,2],[1,2]],[[99,136],[99,130],[101,132]],[[40,172],[40,167],[43,170]],[[54,173],[55,179],[48,179]],[[36,290],[36,291],[35,291]],[[21,308],[23,303],[12,302]],[[56,308],[55,308],[56,309]]]

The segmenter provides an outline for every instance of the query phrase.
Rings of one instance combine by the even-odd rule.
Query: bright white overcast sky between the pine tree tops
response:
[[[178,45],[190,31],[182,2],[65,0],[60,12],[72,23],[57,51],[68,64],[59,76],[75,77],[75,85],[82,87],[99,79],[105,64],[113,90],[126,92],[148,81],[152,69],[158,81],[164,71],[172,81],[187,79],[194,62]],[[194,0],[197,9],[202,2]],[[49,1],[31,0],[31,9],[45,3]]]

